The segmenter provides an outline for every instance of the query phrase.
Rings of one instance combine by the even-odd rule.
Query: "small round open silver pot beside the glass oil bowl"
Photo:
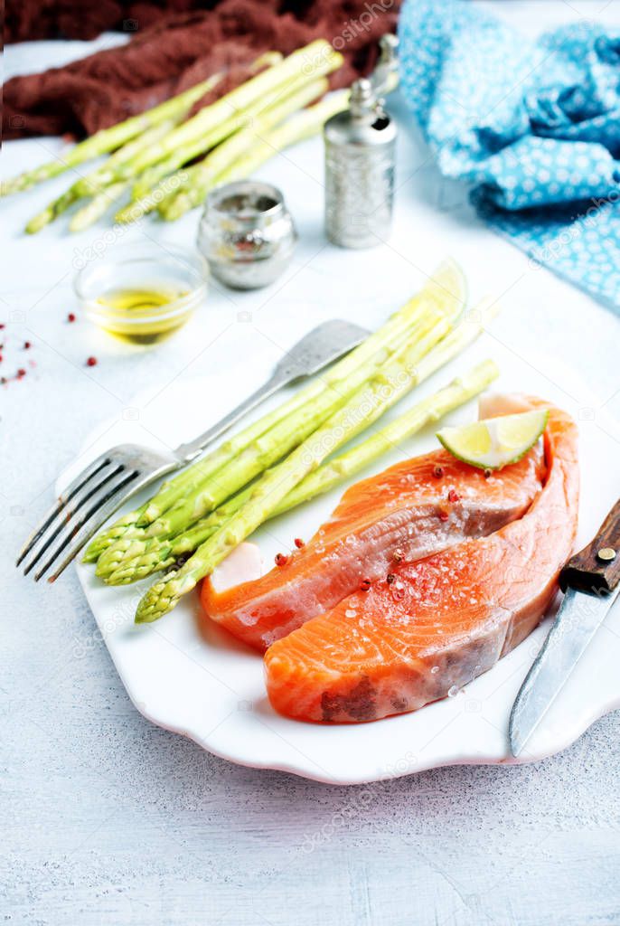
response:
[[[270,183],[227,183],[206,198],[198,247],[217,280],[233,289],[257,289],[277,280],[296,241],[291,214]]]

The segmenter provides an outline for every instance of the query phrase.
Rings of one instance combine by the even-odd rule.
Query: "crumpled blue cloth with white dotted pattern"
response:
[[[539,263],[620,312],[620,33],[531,43],[465,0],[405,0],[401,81],[441,173]]]

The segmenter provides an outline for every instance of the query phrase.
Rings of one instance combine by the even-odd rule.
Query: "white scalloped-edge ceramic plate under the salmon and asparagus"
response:
[[[493,389],[539,394],[571,412],[580,428],[582,494],[578,544],[601,524],[618,494],[620,430],[578,382],[573,371],[548,357],[527,362],[489,335],[449,369],[437,373],[407,404],[434,391],[478,359],[494,357],[502,378]],[[192,436],[197,394],[206,427],[258,383],[230,376],[178,383],[149,402],[138,396],[125,419],[106,422],[88,442],[88,457],[124,440],[175,445]],[[148,403],[148,404],[147,404]],[[219,404],[218,404],[219,403]],[[397,411],[403,410],[405,403]],[[191,415],[184,409],[192,409]],[[477,415],[476,403],[449,416],[453,423]],[[378,471],[406,456],[437,446],[432,430],[383,458]],[[81,458],[81,466],[86,457]],[[70,472],[62,482],[70,478]],[[308,538],[340,497],[338,489],[299,511],[267,524],[254,535],[267,563],[286,551],[293,537]],[[138,499],[140,496],[138,496]],[[131,505],[133,507],[133,505]],[[217,756],[257,768],[279,769],[320,782],[379,781],[459,763],[512,762],[507,729],[510,708],[527,669],[549,630],[545,620],[525,643],[453,698],[413,714],[353,726],[321,726],[279,717],[269,706],[262,659],[213,625],[206,638],[197,629],[197,595],[155,624],[136,627],[135,605],[148,582],[109,588],[93,568],[78,567],[81,584],[105,643],[134,705],[167,730],[180,732]],[[594,720],[620,707],[620,606],[612,609],[589,650],[528,744],[523,761],[552,755],[574,742]]]

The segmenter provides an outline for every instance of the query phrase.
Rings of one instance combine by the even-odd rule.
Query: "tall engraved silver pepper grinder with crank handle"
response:
[[[325,231],[341,247],[373,247],[390,234],[396,125],[382,95],[396,86],[398,40],[380,39],[370,78],[355,81],[349,109],[324,126]]]

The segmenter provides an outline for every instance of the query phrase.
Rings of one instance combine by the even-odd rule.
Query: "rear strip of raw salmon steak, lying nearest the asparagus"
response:
[[[445,450],[405,460],[353,485],[284,567],[225,591],[217,590],[217,576],[205,580],[205,614],[264,651],[399,561],[428,557],[520,518],[544,470],[541,444],[488,479]]]

